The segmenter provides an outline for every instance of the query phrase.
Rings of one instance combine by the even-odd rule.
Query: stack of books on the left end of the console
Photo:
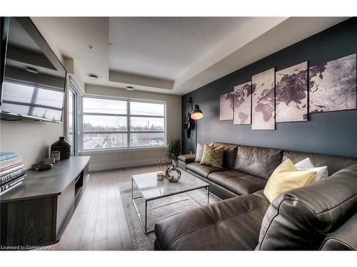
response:
[[[26,179],[22,157],[12,152],[0,152],[0,195],[21,184]]]

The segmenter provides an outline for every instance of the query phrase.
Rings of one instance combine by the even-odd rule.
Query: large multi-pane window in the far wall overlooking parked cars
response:
[[[165,103],[83,98],[83,150],[166,145]]]

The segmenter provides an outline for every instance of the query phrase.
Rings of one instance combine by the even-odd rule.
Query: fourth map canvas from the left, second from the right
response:
[[[276,122],[308,120],[308,62],[275,74]]]

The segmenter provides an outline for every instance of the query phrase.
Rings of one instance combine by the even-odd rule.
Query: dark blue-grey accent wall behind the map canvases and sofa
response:
[[[278,122],[276,130],[251,130],[251,125],[219,121],[219,96],[268,68],[282,70],[308,61],[308,66],[332,61],[357,51],[357,18],[348,19],[314,36],[234,71],[182,96],[183,119],[191,96],[203,111],[198,121],[198,142],[231,142],[285,150],[357,157],[357,110],[314,113],[307,122]],[[195,134],[182,130],[183,153],[195,151]]]

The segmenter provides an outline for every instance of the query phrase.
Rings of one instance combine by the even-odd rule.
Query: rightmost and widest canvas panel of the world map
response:
[[[356,109],[356,53],[309,68],[309,112]]]

